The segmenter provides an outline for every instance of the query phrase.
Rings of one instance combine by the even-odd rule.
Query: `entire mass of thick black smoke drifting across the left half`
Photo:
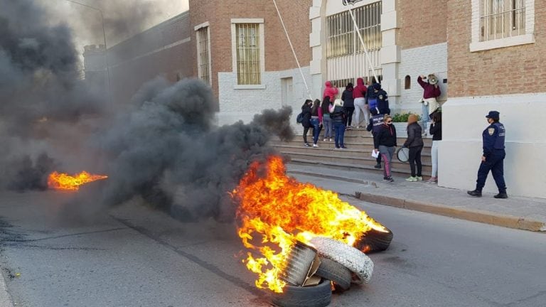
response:
[[[76,214],[140,196],[181,220],[230,220],[228,193],[248,164],[274,152],[272,135],[294,137],[290,108],[215,126],[215,97],[199,80],[151,80],[111,114],[78,78],[70,28],[48,26],[34,1],[0,7],[2,188],[43,189],[54,169],[91,168],[109,178],[75,195]]]

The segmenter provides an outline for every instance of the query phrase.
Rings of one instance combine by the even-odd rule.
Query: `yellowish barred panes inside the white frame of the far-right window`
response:
[[[481,0],[480,41],[525,34],[525,0]]]

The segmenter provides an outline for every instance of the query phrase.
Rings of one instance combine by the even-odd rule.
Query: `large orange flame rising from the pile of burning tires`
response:
[[[232,193],[240,202],[237,232],[251,251],[242,262],[258,274],[258,288],[282,293],[286,283],[279,276],[296,240],[309,244],[320,236],[353,245],[370,228],[385,230],[337,193],[286,176],[279,156],[269,157],[263,174],[260,167],[252,163]]]

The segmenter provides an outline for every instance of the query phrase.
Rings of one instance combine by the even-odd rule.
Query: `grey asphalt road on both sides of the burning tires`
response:
[[[182,223],[137,201],[66,220],[67,197],[0,194],[0,266],[16,306],[270,306],[233,225]],[[545,234],[350,203],[395,238],[370,255],[370,284],[331,306],[546,306]]]

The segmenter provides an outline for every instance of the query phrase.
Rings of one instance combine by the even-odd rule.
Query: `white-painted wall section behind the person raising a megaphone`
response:
[[[417,83],[419,75],[435,73],[439,79],[441,90],[439,101],[444,102],[446,100],[447,84],[441,81],[447,78],[447,43],[402,50],[402,61],[399,68],[401,98],[395,106],[395,113],[412,112],[421,114],[419,99],[423,95],[423,88]],[[410,90],[404,89],[406,75],[410,75],[412,80]]]

